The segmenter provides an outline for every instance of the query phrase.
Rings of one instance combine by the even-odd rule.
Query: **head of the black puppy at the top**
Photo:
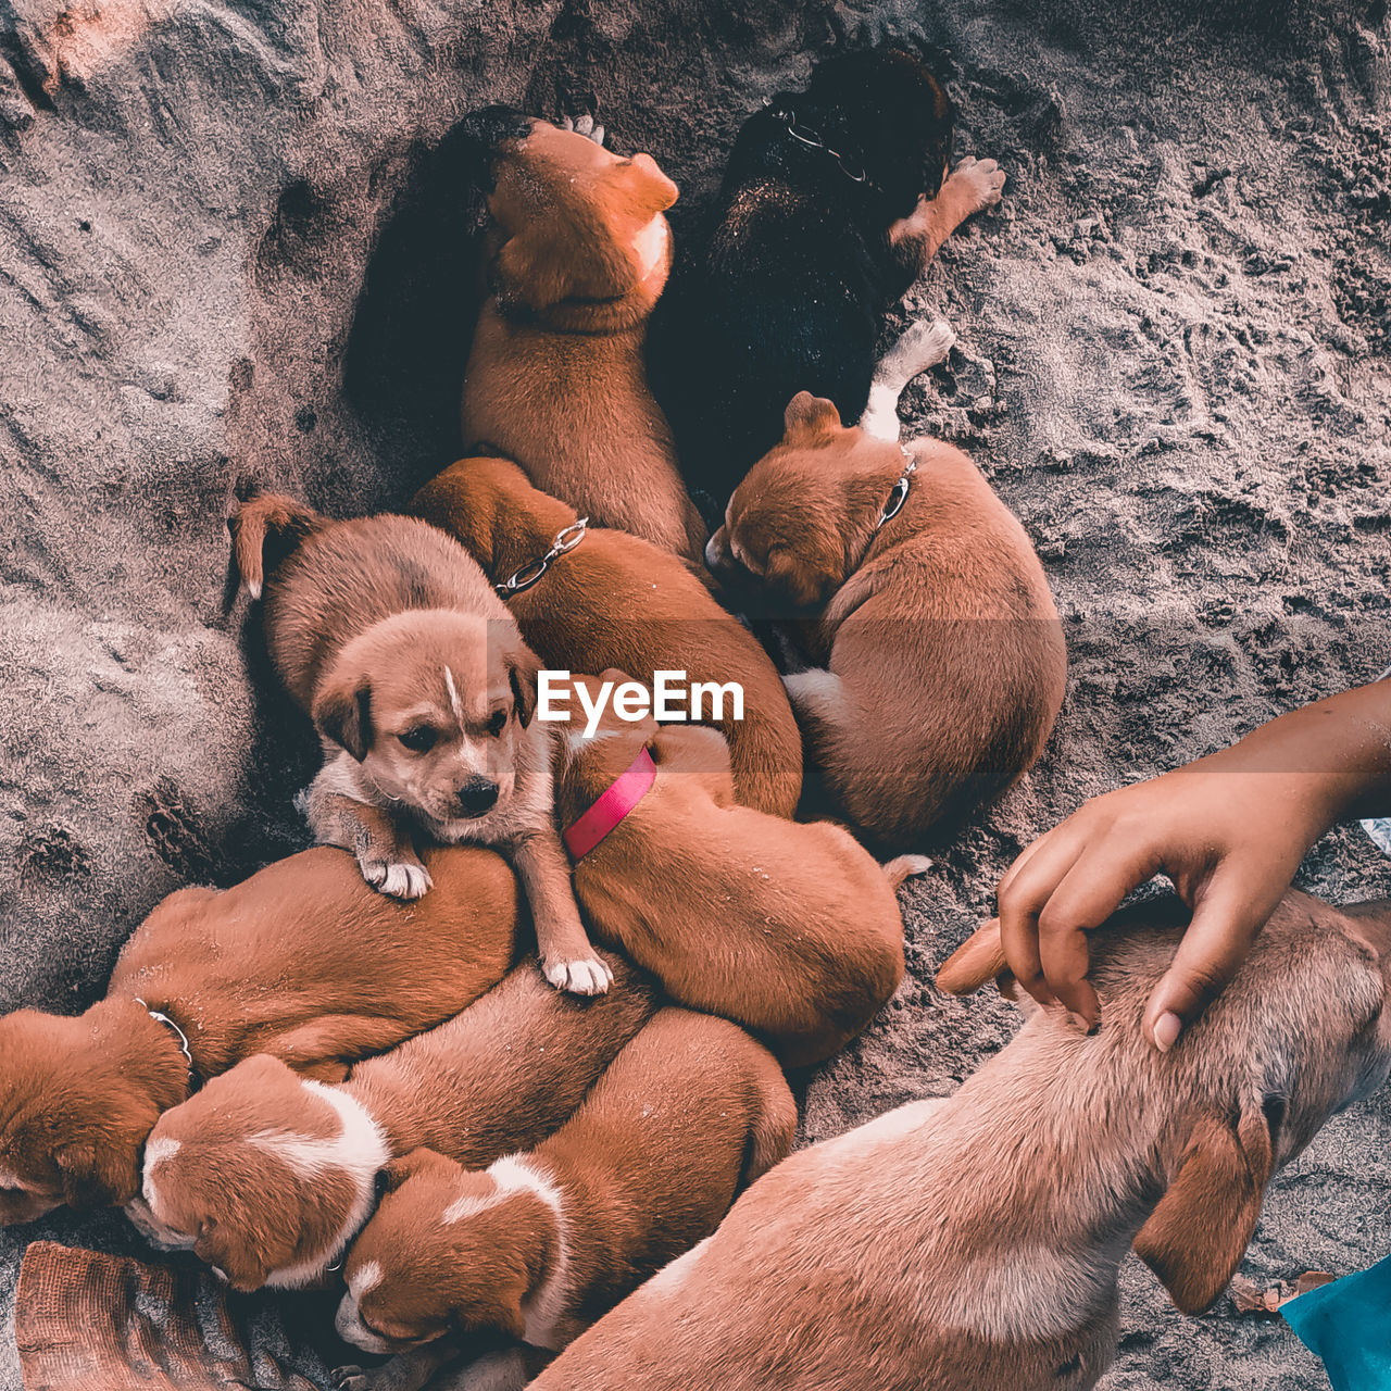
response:
[[[807,100],[826,142],[862,160],[889,217],[907,217],[924,193],[936,196],[951,159],[956,113],[915,57],[871,49],[830,58],[812,72]]]

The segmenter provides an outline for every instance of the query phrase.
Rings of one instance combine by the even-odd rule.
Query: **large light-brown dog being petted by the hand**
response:
[[[536,1391],[1085,1391],[1136,1252],[1187,1313],[1221,1294],[1271,1175],[1391,1068],[1391,904],[1291,893],[1178,1046],[1141,1034],[1168,900],[1093,935],[1100,1032],[1039,1011],[949,1100],[779,1164]],[[869,1370],[872,1369],[872,1370]]]

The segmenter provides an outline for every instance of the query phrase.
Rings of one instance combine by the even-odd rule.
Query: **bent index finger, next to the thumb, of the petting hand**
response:
[[[1135,847],[1134,837],[1106,836],[1072,862],[1039,914],[1043,979],[1057,999],[1088,1028],[1100,1022],[1096,990],[1088,981],[1086,933],[1099,928],[1132,889],[1159,872],[1159,860]]]

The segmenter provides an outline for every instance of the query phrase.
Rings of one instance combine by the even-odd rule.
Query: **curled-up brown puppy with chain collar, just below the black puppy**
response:
[[[736,488],[707,558],[805,612],[785,677],[810,758],[890,846],[995,797],[1039,755],[1067,651],[1020,523],[958,449],[844,428],[807,392]]]

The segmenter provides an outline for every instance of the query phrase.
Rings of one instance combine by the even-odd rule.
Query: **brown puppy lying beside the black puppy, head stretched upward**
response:
[[[662,213],[676,185],[647,154],[619,159],[505,107],[465,129],[492,220],[465,441],[487,440],[595,526],[700,563],[705,527],[643,360],[672,264]]]

